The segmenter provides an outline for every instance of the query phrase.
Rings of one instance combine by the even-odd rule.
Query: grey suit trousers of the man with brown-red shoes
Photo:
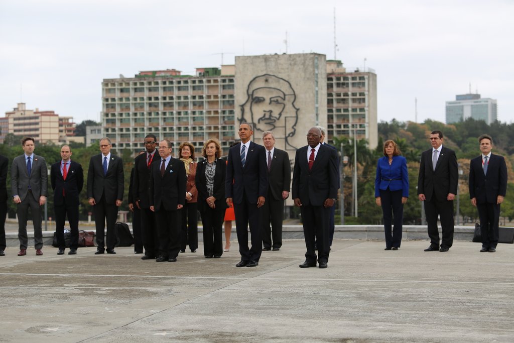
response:
[[[32,223],[34,224],[34,248],[41,249],[43,247],[43,231],[41,228],[41,206],[39,200],[35,201],[31,191],[28,191],[25,199],[18,204],[18,239],[20,240],[20,249],[26,249],[28,244],[27,238],[27,219],[29,207],[32,212]]]

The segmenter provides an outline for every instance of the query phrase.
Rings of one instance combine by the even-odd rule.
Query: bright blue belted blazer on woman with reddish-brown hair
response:
[[[380,190],[389,187],[392,191],[402,190],[401,196],[409,197],[409,172],[407,160],[403,156],[393,156],[389,165],[389,157],[378,159],[377,176],[375,177],[375,197],[380,196]]]

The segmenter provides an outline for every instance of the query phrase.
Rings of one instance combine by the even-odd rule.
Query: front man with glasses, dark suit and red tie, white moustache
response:
[[[302,213],[305,236],[305,262],[300,268],[328,265],[330,208],[337,196],[337,153],[322,144],[321,130],[307,133],[308,145],[296,151],[292,175],[292,198]],[[318,256],[316,256],[316,247]]]

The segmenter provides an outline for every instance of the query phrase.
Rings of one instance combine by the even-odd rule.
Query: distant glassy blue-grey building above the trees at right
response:
[[[473,118],[491,124],[497,120],[497,106],[495,99],[481,98],[480,94],[457,95],[455,101],[446,102],[446,123]]]

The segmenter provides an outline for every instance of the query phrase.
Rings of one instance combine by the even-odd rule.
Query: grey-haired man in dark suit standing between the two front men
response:
[[[282,217],[284,201],[289,196],[291,184],[291,165],[289,155],[284,150],[275,148],[275,136],[271,131],[262,134],[266,148],[266,163],[268,170],[268,193],[262,206],[262,243],[263,251],[280,250],[282,246]],[[269,224],[271,223],[271,228]],[[273,232],[273,241],[271,241]]]

